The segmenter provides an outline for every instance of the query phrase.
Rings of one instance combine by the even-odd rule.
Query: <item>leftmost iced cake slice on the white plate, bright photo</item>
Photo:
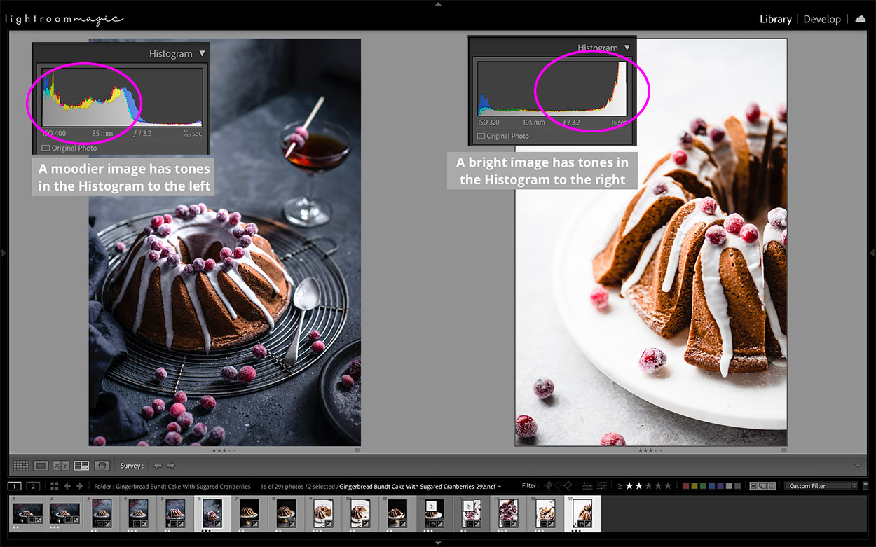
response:
[[[689,199],[682,185],[667,177],[655,177],[639,188],[626,206],[611,240],[593,260],[598,284],[619,285],[630,274],[651,235],[667,223]]]

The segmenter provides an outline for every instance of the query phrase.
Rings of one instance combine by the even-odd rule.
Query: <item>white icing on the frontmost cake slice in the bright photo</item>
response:
[[[759,242],[746,243],[741,237],[730,232],[726,233],[724,243],[713,245],[710,242],[703,243],[700,250],[700,260],[703,269],[703,293],[706,305],[715,322],[718,332],[721,334],[721,375],[726,377],[730,373],[730,361],[733,358],[733,336],[730,330],[730,315],[727,312],[727,298],[724,296],[724,284],[721,282],[721,255],[724,249],[734,248],[742,252],[745,264],[752,276],[754,286],[758,289],[758,297],[763,305],[764,301],[764,275],[761,268]]]

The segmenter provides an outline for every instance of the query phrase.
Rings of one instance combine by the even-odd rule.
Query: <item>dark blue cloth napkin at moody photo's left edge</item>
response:
[[[88,219],[88,442],[97,435],[107,442],[129,440],[146,434],[139,410],[124,397],[103,391],[103,376],[117,361],[128,356],[124,332],[103,309],[100,291],[109,263],[106,249]]]

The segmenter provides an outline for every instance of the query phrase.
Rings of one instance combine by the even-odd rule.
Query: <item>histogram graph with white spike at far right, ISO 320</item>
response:
[[[477,116],[542,116],[535,78],[549,60],[477,62]],[[551,116],[626,116],[625,61],[559,61],[541,75],[539,102]]]

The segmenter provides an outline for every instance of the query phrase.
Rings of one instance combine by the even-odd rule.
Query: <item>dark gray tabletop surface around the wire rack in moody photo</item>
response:
[[[317,88],[314,86],[314,88]],[[321,88],[320,89],[322,92]],[[347,324],[335,344],[313,367],[292,380],[258,393],[223,397],[215,410],[205,413],[194,401],[187,403],[195,421],[208,428],[222,425],[223,445],[347,445],[322,415],[317,395],[317,377],[334,352],[360,336],[360,123],[357,90],[336,86],[327,93],[319,119],[340,123],[350,130],[353,147],[347,160],[334,171],[317,175],[316,193],[329,200],[335,213],[328,224],[303,229],[307,236],[328,235],[340,248],[333,258],[347,280],[350,312]],[[279,131],[289,122],[307,117],[316,102],[315,95],[291,92],[279,96],[226,123],[211,136],[211,155],[215,158],[215,197],[95,197],[88,201],[89,214],[96,217],[98,230],[134,214],[150,211],[173,212],[179,203],[203,201],[208,207],[258,214],[283,220],[280,209],[293,195],[300,195],[306,177],[289,165],[279,150]],[[329,244],[325,242],[328,248]],[[218,373],[218,371],[217,371]],[[154,394],[104,381],[104,389],[115,391],[137,407],[149,404]],[[169,407],[169,404],[167,405]],[[193,410],[194,408],[194,410]],[[153,418],[145,438],[158,445],[164,438],[167,411]],[[140,439],[138,439],[140,440]],[[186,444],[194,438],[184,436]],[[122,443],[136,444],[137,441]]]

